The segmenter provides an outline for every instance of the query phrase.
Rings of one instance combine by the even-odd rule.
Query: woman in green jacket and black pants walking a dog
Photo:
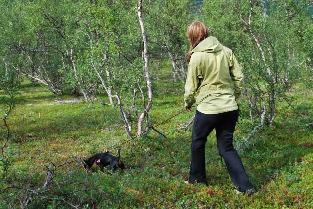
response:
[[[233,133],[238,118],[237,100],[243,87],[243,74],[227,47],[210,36],[207,27],[193,22],[187,29],[190,51],[185,85],[185,109],[198,104],[193,123],[190,183],[207,183],[205,143],[215,129],[219,154],[224,157],[230,178],[239,192],[255,192],[233,147]],[[231,88],[233,82],[234,90]],[[198,94],[195,101],[195,93]]]

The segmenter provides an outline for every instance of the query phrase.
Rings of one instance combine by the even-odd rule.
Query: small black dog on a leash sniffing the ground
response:
[[[96,163],[101,168],[102,171],[103,171],[104,166],[107,166],[107,165],[110,165],[110,170],[112,172],[115,172],[117,168],[124,170],[125,165],[120,160],[120,149],[118,150],[118,152],[119,152],[118,157],[108,154],[109,152],[98,153],[90,157],[89,159],[84,160],[85,162],[84,168],[89,169],[91,168],[91,166],[93,166],[94,163]]]

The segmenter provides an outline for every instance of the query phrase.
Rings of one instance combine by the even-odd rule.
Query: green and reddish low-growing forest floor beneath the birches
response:
[[[149,115],[151,122],[157,124],[183,110],[184,84],[158,82],[154,86],[154,104]],[[27,81],[15,94],[16,105],[9,119],[13,138],[8,149],[8,173],[26,175],[48,160],[60,164],[70,156],[85,159],[104,147],[125,141],[118,108],[86,103],[70,94],[54,95],[46,87]],[[193,109],[158,127],[169,139],[149,131],[146,137],[137,140],[136,148],[132,143],[123,146],[122,161],[129,167],[125,172],[102,173],[94,165],[89,181],[107,196],[95,192],[80,198],[92,196],[98,208],[311,208],[313,131],[305,124],[313,121],[313,96],[301,83],[290,90],[289,96],[294,109],[281,101],[274,126],[261,127],[252,137],[253,143],[239,152],[258,190],[251,197],[234,191],[218,155],[215,131],[206,144],[209,185],[184,183],[189,171],[191,132],[176,129],[193,116]],[[254,127],[248,119],[249,104],[241,101],[240,105],[244,119],[242,125],[237,125],[235,146]],[[135,135],[136,124],[133,126]],[[111,154],[117,155],[117,151]],[[84,178],[82,166],[72,165],[70,169],[78,179]],[[43,183],[44,175],[39,176],[42,179],[33,177],[33,181]],[[61,196],[59,193],[65,190],[60,188],[54,194]],[[60,208],[62,202],[44,204],[49,205],[34,201],[29,208]],[[84,204],[81,207],[90,207],[90,203]]]

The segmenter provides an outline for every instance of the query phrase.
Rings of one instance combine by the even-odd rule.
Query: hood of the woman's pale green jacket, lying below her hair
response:
[[[193,50],[193,52],[207,52],[213,53],[222,50],[222,45],[219,43],[216,37],[209,36],[201,41]]]

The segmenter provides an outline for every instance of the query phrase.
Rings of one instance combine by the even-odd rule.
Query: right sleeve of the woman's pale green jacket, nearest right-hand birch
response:
[[[241,90],[243,88],[243,73],[241,71],[241,67],[239,66],[235,55],[233,52],[231,52],[231,56],[229,59],[229,69],[230,69],[230,74],[232,77],[232,80],[234,82],[234,95],[235,98],[239,98],[241,94]]]

